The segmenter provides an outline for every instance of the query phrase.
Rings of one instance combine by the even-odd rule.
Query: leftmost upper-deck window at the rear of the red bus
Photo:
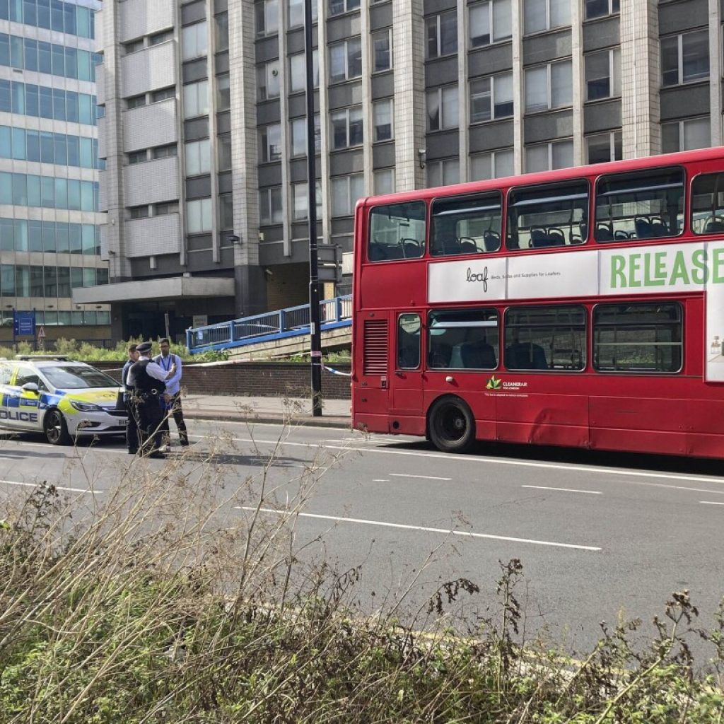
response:
[[[425,202],[374,206],[369,214],[369,261],[419,258],[425,251]]]

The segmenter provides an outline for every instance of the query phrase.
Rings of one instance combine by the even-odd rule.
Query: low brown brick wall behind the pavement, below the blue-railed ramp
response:
[[[120,379],[119,363],[93,363]],[[349,372],[349,364],[334,364],[334,369]],[[190,395],[248,395],[250,397],[307,397],[310,371],[306,364],[293,362],[243,362],[213,366],[187,364],[182,385]],[[322,395],[330,400],[350,399],[350,378],[324,372]]]

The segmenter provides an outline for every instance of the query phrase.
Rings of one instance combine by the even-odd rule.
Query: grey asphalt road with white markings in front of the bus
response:
[[[668,595],[689,589],[708,626],[724,594],[717,461],[484,445],[445,455],[419,439],[341,429],[193,420],[189,429],[193,445],[178,465],[191,477],[213,467],[236,481],[252,476],[253,489],[278,448],[265,481],[274,492],[261,503],[230,503],[234,515],[261,505],[262,517],[278,518],[316,460],[321,476],[295,521],[296,542],[338,571],[362,566],[363,610],[415,580],[407,600],[414,609],[440,583],[465,577],[481,589],[460,598],[474,620],[494,601],[498,561],[515,557],[526,631],[547,627],[552,641],[585,651],[599,622],[615,624],[621,610],[649,632]],[[134,460],[119,440],[74,449],[30,435],[6,437],[0,460],[1,494],[45,480],[78,505],[132,479],[131,465],[167,464]]]

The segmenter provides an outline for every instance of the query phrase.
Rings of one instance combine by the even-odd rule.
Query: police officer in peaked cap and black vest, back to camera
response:
[[[149,358],[151,342],[136,345],[138,361],[128,371],[128,384],[132,388],[132,408],[138,420],[141,455],[149,458],[164,458],[160,452],[161,423],[164,411],[161,409],[161,397],[166,390],[167,372]]]

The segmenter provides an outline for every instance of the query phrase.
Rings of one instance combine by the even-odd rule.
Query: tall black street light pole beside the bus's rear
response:
[[[321,329],[319,329],[319,258],[316,233],[316,164],[314,149],[314,65],[312,3],[304,3],[304,59],[307,84],[307,216],[309,219],[309,340],[311,353],[312,415],[321,416]]]

